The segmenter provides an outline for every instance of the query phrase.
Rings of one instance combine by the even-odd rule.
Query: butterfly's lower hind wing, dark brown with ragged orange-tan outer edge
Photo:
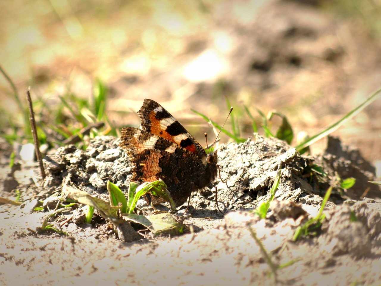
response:
[[[132,181],[153,182],[162,179],[176,206],[183,204],[195,185],[202,162],[187,149],[158,135],[134,127],[121,130],[119,146],[126,149],[133,163]]]

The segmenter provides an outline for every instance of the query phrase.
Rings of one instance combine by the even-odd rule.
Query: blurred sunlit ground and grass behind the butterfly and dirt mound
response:
[[[242,138],[269,111],[286,116],[295,135],[314,135],[381,87],[380,0],[14,0],[0,2],[0,22],[8,141],[28,139],[28,86],[46,141],[83,128],[75,115],[103,90],[97,110],[107,132],[138,126],[150,98],[202,145],[213,132],[191,109],[222,125],[234,106],[226,129]],[[333,135],[379,165],[380,114],[378,99]]]

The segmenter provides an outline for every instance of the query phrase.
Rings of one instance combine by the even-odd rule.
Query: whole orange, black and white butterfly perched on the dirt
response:
[[[206,154],[202,146],[153,100],[145,99],[138,112],[141,129],[125,127],[119,146],[133,163],[132,181],[162,179],[176,206],[192,191],[207,186],[217,175],[217,152]]]

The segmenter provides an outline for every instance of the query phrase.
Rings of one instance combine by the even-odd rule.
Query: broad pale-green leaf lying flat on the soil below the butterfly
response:
[[[123,218],[131,222],[139,223],[148,228],[154,235],[170,234],[179,235],[184,232],[184,224],[177,222],[173,215],[164,213],[156,215],[125,214]]]

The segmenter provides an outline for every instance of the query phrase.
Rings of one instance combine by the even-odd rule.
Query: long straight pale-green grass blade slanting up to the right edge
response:
[[[351,110],[348,112],[343,118],[341,118],[339,121],[335,122],[331,126],[329,126],[327,129],[323,130],[322,132],[316,134],[315,136],[312,136],[309,138],[309,140],[305,141],[304,143],[296,146],[296,150],[299,151],[312,143],[315,143],[316,141],[326,137],[328,134],[334,132],[337,130],[341,125],[343,125],[345,122],[349,121],[357,115],[360,111],[362,111],[365,107],[367,107],[369,104],[371,104],[373,101],[377,99],[377,97],[380,95],[381,88],[377,90],[375,93],[373,93],[367,100],[365,100],[362,104],[357,106],[355,109]]]

